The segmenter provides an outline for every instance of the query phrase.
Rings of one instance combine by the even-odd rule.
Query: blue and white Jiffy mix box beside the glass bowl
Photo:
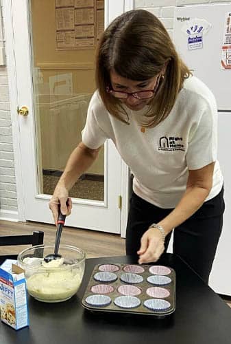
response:
[[[1,321],[19,330],[29,325],[24,270],[6,259],[0,266]]]

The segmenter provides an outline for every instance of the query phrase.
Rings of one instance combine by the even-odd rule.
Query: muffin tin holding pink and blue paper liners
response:
[[[99,264],[82,305],[88,310],[166,316],[175,311],[175,271],[159,265]]]

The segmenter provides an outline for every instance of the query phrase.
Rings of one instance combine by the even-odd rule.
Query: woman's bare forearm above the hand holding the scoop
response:
[[[76,180],[93,164],[99,149],[88,149],[82,142],[71,153],[57,186],[70,190]]]

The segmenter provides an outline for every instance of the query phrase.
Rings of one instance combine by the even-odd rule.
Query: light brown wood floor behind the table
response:
[[[44,244],[54,244],[56,227],[38,222],[9,222],[0,220],[0,235],[31,234],[34,230],[44,232]],[[119,235],[64,226],[60,244],[82,248],[87,258],[125,255],[125,239]],[[18,254],[27,246],[0,246],[0,255]],[[223,297],[231,307],[231,297]]]

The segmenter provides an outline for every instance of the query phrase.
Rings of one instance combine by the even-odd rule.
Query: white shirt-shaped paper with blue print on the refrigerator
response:
[[[182,32],[186,34],[188,41],[188,49],[202,49],[204,35],[210,30],[212,24],[205,19],[191,19],[182,26]]]

